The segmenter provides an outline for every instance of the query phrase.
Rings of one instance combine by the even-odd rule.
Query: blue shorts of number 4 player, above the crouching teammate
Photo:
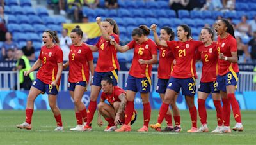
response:
[[[92,85],[95,86],[100,86],[101,87],[101,81],[102,78],[104,78],[105,76],[111,75],[112,79],[113,79],[113,85],[116,86],[117,85],[117,81],[118,81],[118,71],[117,69],[113,70],[113,71],[109,71],[109,72],[94,72],[94,77],[93,77],[93,82]]]

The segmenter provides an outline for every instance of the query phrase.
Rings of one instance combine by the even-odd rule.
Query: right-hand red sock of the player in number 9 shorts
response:
[[[237,123],[241,123],[241,113],[240,113],[240,107],[239,104],[236,100],[235,94],[234,93],[228,93],[228,100],[231,104],[234,118]]]

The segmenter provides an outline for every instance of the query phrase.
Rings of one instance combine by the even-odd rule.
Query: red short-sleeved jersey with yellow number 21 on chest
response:
[[[166,41],[168,48],[175,55],[176,64],[173,67],[171,76],[174,78],[197,78],[195,66],[195,54],[200,45],[200,41],[190,40],[182,41]]]

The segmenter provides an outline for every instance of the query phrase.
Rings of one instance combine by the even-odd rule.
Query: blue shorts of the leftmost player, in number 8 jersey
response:
[[[57,95],[59,86],[52,86],[51,84],[45,84],[40,79],[36,78],[36,80],[32,83],[32,86],[42,91],[42,93],[47,93],[48,95]]]

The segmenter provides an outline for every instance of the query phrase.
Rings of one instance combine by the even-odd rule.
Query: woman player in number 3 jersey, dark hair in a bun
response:
[[[86,87],[89,84],[89,70],[93,76],[94,65],[92,50],[83,43],[83,31],[79,25],[71,31],[70,38],[72,45],[70,46],[69,60],[64,64],[64,68],[69,65],[68,90],[75,104],[75,113],[77,125],[70,128],[73,131],[82,131],[87,121],[86,107],[82,102],[82,97]]]

